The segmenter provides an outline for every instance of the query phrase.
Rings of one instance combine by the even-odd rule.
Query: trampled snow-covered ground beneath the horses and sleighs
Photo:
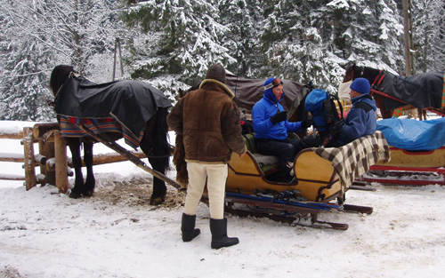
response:
[[[0,122],[0,131],[32,126]],[[20,140],[0,139],[0,153],[21,153]],[[108,152],[96,145],[95,152]],[[20,163],[0,173],[22,174]],[[200,234],[182,242],[183,193],[169,187],[167,202],[147,203],[149,174],[131,163],[95,166],[96,195],[70,199],[52,186],[26,191],[0,180],[0,277],[443,277],[445,188],[350,190],[346,203],[370,215],[325,212],[320,219],[346,231],[289,226],[265,218],[227,215],[240,243],[212,250],[208,209]],[[168,173],[173,178],[174,171]],[[70,179],[72,182],[72,179]]]

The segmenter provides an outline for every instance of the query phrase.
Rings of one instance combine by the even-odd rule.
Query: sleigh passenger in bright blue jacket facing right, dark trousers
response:
[[[279,157],[279,179],[291,182],[291,170],[295,155],[305,147],[312,147],[312,139],[290,139],[287,132],[297,132],[307,128],[305,118],[301,122],[288,122],[287,111],[279,103],[283,100],[283,83],[271,77],[264,82],[264,95],[252,108],[256,151],[262,155]]]

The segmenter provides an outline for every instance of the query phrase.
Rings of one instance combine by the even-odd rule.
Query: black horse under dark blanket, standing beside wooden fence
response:
[[[78,80],[77,80],[78,79]],[[80,83],[79,83],[80,82]],[[74,85],[73,85],[74,84]],[[85,85],[84,85],[85,84]],[[103,85],[103,86],[102,86]],[[106,111],[106,115],[108,116],[106,119],[109,121],[114,121],[113,124],[117,124],[117,129],[120,127],[121,130],[119,131],[101,131],[101,128],[97,125],[97,129],[101,131],[101,135],[104,136],[109,141],[114,141],[117,139],[121,139],[125,137],[132,137],[133,134],[132,130],[137,131],[137,127],[140,127],[140,132],[137,133],[139,136],[133,136],[134,140],[132,141],[134,143],[133,147],[141,147],[142,151],[145,155],[147,155],[149,162],[151,164],[151,167],[153,170],[158,171],[161,174],[165,174],[166,170],[170,167],[169,162],[169,156],[173,152],[173,147],[168,142],[168,125],[166,123],[166,116],[168,115],[168,107],[171,107],[171,104],[168,99],[157,89],[151,87],[148,84],[141,83],[138,81],[133,80],[125,80],[125,81],[117,81],[112,83],[100,83],[95,84],[89,82],[85,77],[81,75],[77,75],[77,72],[74,70],[72,66],[67,65],[59,65],[53,68],[51,77],[50,77],[50,90],[53,91],[54,94],[54,103],[55,103],[55,110],[57,114],[58,122],[61,125],[62,119],[75,119],[77,117],[81,120],[85,120],[85,118],[88,118],[87,122],[94,122],[93,119],[90,119],[89,115],[73,115],[74,117],[67,117],[65,115],[65,112],[69,110],[69,108],[63,107],[69,107],[71,106],[77,106],[76,109],[79,109],[79,107],[85,107],[89,106],[89,111],[96,111],[105,109],[109,110],[110,106],[109,102],[98,102],[98,103],[68,103],[70,98],[73,98],[73,95],[75,94],[74,90],[72,88],[74,87],[80,87],[83,88],[83,90],[77,91],[80,98],[86,98],[91,95],[101,95],[101,99],[105,99],[107,101],[114,101],[119,102],[120,105],[123,105],[121,110],[124,112],[126,111],[126,114],[132,114],[134,116],[134,111],[146,111],[147,109],[152,108],[154,111],[153,115],[150,115],[150,119],[147,121],[143,121],[142,118],[148,118],[147,115],[136,117],[139,122],[137,123],[128,123],[125,126],[122,124],[123,122],[121,119],[117,119],[118,121],[114,121],[115,119],[113,117],[117,117],[118,112],[114,111],[114,114]],[[94,89],[96,88],[96,89]],[[97,93],[98,89],[101,88],[101,93]],[[109,89],[112,93],[109,93],[109,99],[106,99],[104,96],[104,90],[103,88]],[[106,91],[106,90],[105,90]],[[118,91],[118,92],[116,92]],[[116,95],[123,96],[122,99],[125,99],[125,101],[122,101],[120,99],[116,99]],[[151,96],[150,96],[151,95]],[[113,99],[114,98],[114,99]],[[127,99],[144,99],[143,101],[135,101],[130,102]],[[156,99],[156,100],[155,100]],[[160,99],[160,100],[159,100]],[[146,102],[149,104],[149,107],[141,107],[142,104],[138,103]],[[133,105],[129,105],[132,104]],[[150,107],[151,104],[151,107]],[[118,105],[114,105],[118,106]],[[139,107],[138,107],[139,106]],[[134,119],[134,117],[133,117]],[[91,121],[90,121],[91,120]],[[128,121],[128,120],[127,120]],[[97,122],[97,121],[96,121]],[[85,121],[84,121],[85,123]],[[109,123],[107,123],[109,125]],[[61,125],[62,126],[62,125]],[[71,128],[74,126],[73,124],[70,124]],[[128,126],[131,126],[132,128],[129,129]],[[77,126],[77,131],[82,131]],[[67,133],[68,134],[68,133]],[[80,134],[80,135],[79,135]],[[142,135],[143,134],[143,135]],[[73,134],[72,136],[65,135],[62,132],[62,136],[67,142],[67,145],[69,146],[69,150],[72,155],[72,163],[74,165],[75,169],[75,182],[74,187],[71,189],[71,192],[69,194],[69,197],[71,198],[79,198],[79,197],[88,197],[92,196],[94,192],[95,187],[95,179],[93,174],[93,143],[96,142],[95,139],[92,137],[89,137],[87,134],[78,132],[78,134]],[[138,142],[138,140],[140,140]],[[127,142],[125,138],[125,142]],[[128,143],[128,142],[127,142]],[[84,182],[84,177],[82,173],[82,158],[81,158],[81,147],[84,147],[84,162],[86,167],[86,179]],[[162,179],[158,179],[157,177],[153,177],[153,193],[150,196],[150,204],[152,205],[158,205],[160,203],[163,203],[165,201],[166,197],[166,183]]]

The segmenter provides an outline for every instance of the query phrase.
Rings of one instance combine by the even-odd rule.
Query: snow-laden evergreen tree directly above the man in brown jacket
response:
[[[149,57],[139,59],[133,77],[151,78],[158,75],[179,75],[182,81],[198,83],[208,66],[220,62],[224,66],[236,63],[221,37],[227,31],[218,22],[219,11],[214,0],[193,1],[126,1],[124,17],[130,27],[139,26],[156,42]],[[159,32],[159,33],[155,33]]]

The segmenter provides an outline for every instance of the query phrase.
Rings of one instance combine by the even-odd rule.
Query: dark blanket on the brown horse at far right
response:
[[[441,108],[445,98],[445,75],[443,72],[429,72],[410,76],[392,75],[384,72],[381,83],[377,83],[376,91],[382,91],[394,99],[384,99],[386,109],[392,110],[405,104],[417,108]]]

